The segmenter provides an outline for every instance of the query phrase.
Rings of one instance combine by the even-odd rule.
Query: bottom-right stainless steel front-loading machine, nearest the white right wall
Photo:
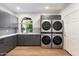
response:
[[[52,48],[62,48],[62,47],[63,47],[63,35],[52,34]]]

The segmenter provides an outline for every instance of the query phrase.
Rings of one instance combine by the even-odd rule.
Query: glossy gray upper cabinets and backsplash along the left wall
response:
[[[16,33],[18,29],[17,17],[0,11],[0,35]]]

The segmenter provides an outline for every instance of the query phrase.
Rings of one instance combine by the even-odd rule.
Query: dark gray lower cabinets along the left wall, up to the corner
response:
[[[16,47],[16,36],[0,39],[0,55],[8,53]]]

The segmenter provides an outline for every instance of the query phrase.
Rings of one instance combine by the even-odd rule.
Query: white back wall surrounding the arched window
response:
[[[53,14],[57,14],[57,13],[22,13],[22,14],[16,14],[17,17],[19,18],[19,31],[21,32],[21,25],[20,22],[24,17],[30,17],[33,20],[33,32],[35,33],[40,33],[40,15],[53,15]]]

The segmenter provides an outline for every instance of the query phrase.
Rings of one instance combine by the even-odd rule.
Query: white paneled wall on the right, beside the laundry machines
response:
[[[64,49],[79,55],[79,4],[70,4],[60,14],[64,20]]]

